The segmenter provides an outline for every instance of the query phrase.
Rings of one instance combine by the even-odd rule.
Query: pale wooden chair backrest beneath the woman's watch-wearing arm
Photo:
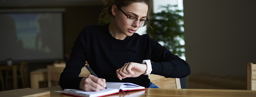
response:
[[[179,78],[165,78],[164,76],[150,74],[148,75],[150,82],[153,82],[159,88],[181,89]]]

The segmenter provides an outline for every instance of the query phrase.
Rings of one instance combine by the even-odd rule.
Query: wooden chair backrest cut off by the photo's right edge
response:
[[[247,90],[256,90],[256,64],[247,63]]]

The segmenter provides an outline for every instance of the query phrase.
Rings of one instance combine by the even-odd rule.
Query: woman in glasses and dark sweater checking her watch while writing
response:
[[[187,62],[173,55],[148,34],[135,33],[150,21],[147,18],[148,9],[152,10],[150,0],[108,0],[101,15],[105,16],[104,19],[113,17],[113,21],[104,26],[83,28],[72,47],[59,85],[63,89],[84,91],[102,90],[106,87],[105,82],[130,82],[157,88],[148,79],[148,74],[170,78],[190,75]],[[93,75],[78,77],[86,61],[102,79]]]

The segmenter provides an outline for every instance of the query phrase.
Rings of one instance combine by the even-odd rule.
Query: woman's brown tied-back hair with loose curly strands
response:
[[[107,20],[111,17],[114,17],[114,15],[112,14],[112,11],[111,11],[113,5],[116,5],[121,8],[121,7],[127,7],[132,3],[142,2],[142,3],[145,3],[146,5],[148,5],[148,9],[151,10],[150,15],[148,12],[149,17],[153,13],[153,10],[150,6],[150,0],[103,0],[103,2],[105,3],[105,5],[103,7],[106,6],[106,8],[104,8],[102,10],[102,13],[99,14],[99,23],[101,20]]]

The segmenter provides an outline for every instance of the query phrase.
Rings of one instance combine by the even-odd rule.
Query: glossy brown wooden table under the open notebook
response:
[[[51,94],[40,97],[73,97],[54,92],[62,90],[60,86],[41,88],[41,90],[49,90]],[[130,91],[128,94],[121,93],[105,97],[255,97],[255,95],[256,91],[251,90],[147,88],[144,90]]]

